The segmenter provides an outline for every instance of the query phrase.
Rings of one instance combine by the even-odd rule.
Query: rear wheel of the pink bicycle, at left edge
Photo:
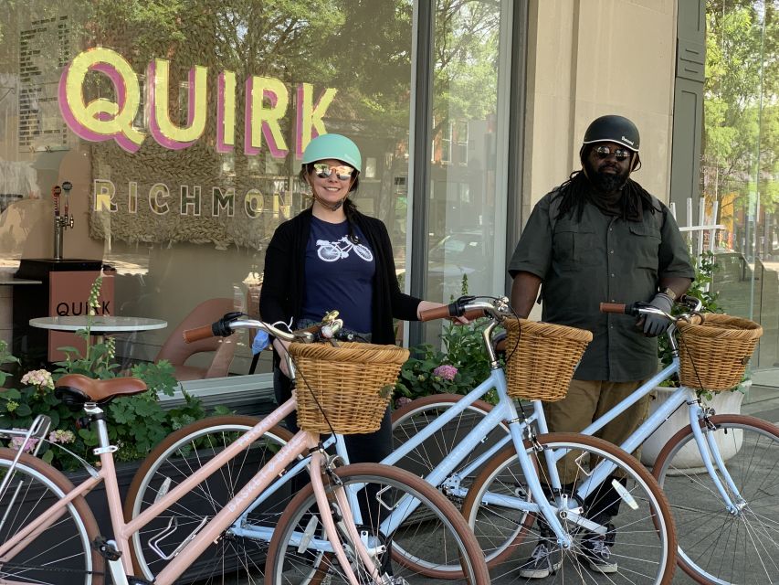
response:
[[[0,480],[5,479],[16,454],[12,449],[0,449]],[[72,489],[73,484],[63,473],[22,453],[5,493],[0,495],[0,542],[7,542],[31,521],[49,514],[51,506]],[[90,546],[99,534],[95,516],[84,497],[79,496],[14,558],[8,562],[4,559],[0,580],[101,585],[105,559]]]

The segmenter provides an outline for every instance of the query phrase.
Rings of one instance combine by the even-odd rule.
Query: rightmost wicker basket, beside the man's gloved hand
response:
[[[702,316],[701,324],[677,324],[681,384],[711,391],[738,386],[763,327],[727,314]]]

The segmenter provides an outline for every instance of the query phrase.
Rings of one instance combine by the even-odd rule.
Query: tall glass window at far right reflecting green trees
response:
[[[709,0],[701,191],[721,308],[763,325],[755,379],[779,385],[779,2]],[[716,214],[716,215],[714,215]]]

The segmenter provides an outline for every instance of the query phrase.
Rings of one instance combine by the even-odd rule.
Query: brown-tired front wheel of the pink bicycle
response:
[[[389,507],[384,507],[374,504],[373,508],[370,504],[361,506],[363,514],[370,516],[363,518],[363,525],[359,527],[369,543],[376,541],[388,543],[387,535],[381,534],[377,528],[376,519],[380,515],[375,513],[376,509],[390,509],[392,505],[396,505],[402,495],[412,495],[421,502],[414,514],[406,518],[392,535],[388,535],[392,542],[389,545],[392,550],[391,561],[387,555],[377,561],[377,564],[381,565],[384,570],[390,564],[392,565],[392,577],[396,580],[393,582],[413,582],[411,581],[413,569],[409,569],[409,566],[405,564],[405,558],[398,558],[394,552],[396,543],[401,542],[407,551],[435,548],[437,554],[443,557],[446,562],[458,559],[458,562],[464,563],[465,567],[462,570],[468,576],[468,582],[490,583],[490,575],[479,550],[479,544],[468,528],[465,519],[430,484],[426,484],[414,474],[402,469],[377,463],[347,465],[337,469],[335,473],[343,485],[370,484],[372,487],[369,491],[372,494],[381,494],[382,503],[389,505]],[[332,493],[333,490],[340,488],[332,483],[327,483],[326,489]],[[273,534],[268,550],[266,565],[266,582],[268,584],[297,583],[300,575],[307,579],[311,576],[311,551],[299,552],[300,544],[293,541],[293,536],[295,531],[300,529],[300,526],[309,527],[311,530],[311,525],[316,524],[312,518],[318,514],[313,488],[308,485],[289,503],[284,516],[279,519],[278,528]],[[429,539],[431,524],[434,526],[433,540]],[[319,526],[321,527],[321,523]],[[446,533],[441,534],[441,530],[437,529],[439,527],[444,528]],[[348,545],[347,549],[353,550],[352,545]],[[339,573],[334,555],[330,554],[327,560],[328,567],[325,577],[328,582],[345,582],[343,575]],[[352,560],[353,569],[358,573],[358,579],[361,575],[365,576],[365,569],[358,564],[359,560],[354,556],[352,556]],[[322,572],[321,567],[319,569]],[[294,580],[290,580],[290,578],[294,578]]]

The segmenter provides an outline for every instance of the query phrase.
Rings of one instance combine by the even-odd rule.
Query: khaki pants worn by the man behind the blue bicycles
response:
[[[637,382],[605,382],[599,380],[571,380],[568,394],[557,402],[544,402],[543,411],[550,432],[580,432],[584,431],[593,420],[600,418],[608,410],[629,396],[644,380]],[[637,401],[625,412],[609,422],[603,429],[595,433],[605,441],[616,445],[622,443],[637,430],[647,419],[650,396]],[[639,449],[633,454],[637,457]],[[571,484],[576,477],[581,478],[574,459],[577,454],[572,452],[557,463],[560,481]],[[590,462],[595,466],[595,462]],[[577,473],[579,472],[579,473]]]

